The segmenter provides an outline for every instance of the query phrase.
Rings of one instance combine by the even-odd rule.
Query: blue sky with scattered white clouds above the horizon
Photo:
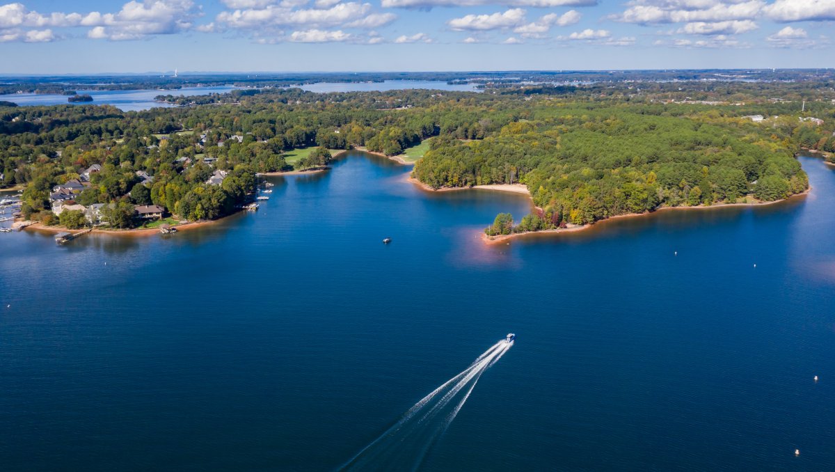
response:
[[[0,74],[835,67],[835,0],[0,0]]]

